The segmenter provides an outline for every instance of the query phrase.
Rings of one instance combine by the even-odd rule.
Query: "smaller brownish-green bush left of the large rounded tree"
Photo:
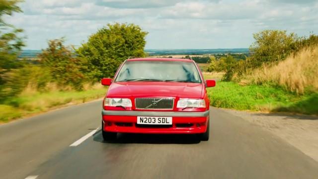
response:
[[[50,40],[39,58],[49,69],[53,81],[80,90],[85,80],[83,71],[86,71],[86,65],[75,55],[72,48],[64,46],[63,43],[64,39]]]

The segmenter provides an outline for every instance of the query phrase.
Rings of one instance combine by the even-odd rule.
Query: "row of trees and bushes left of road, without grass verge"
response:
[[[3,3],[2,3],[3,1]],[[0,8],[0,101],[25,88],[38,91],[76,89],[112,77],[129,57],[144,57],[148,34],[134,24],[108,24],[90,35],[79,48],[66,46],[65,39],[54,39],[38,55],[38,60],[19,60],[24,46],[22,29],[4,22],[4,14],[21,12],[19,0],[2,0]],[[3,30],[3,31],[2,31]],[[4,33],[6,32],[6,33]]]

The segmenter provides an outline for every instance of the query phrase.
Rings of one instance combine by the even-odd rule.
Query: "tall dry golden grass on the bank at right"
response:
[[[241,85],[264,83],[273,83],[300,94],[308,87],[318,90],[318,46],[303,49],[275,66],[264,66],[240,78]]]

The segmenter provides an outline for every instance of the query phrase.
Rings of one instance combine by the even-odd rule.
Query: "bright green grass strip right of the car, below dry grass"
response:
[[[285,111],[318,114],[318,93],[297,95],[270,86],[240,86],[233,82],[217,82],[208,89],[211,105],[252,111]]]

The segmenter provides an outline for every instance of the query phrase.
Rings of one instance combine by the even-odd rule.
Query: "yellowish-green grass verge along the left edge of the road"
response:
[[[106,88],[101,88],[85,91],[36,92],[13,97],[0,104],[0,123],[48,111],[67,104],[78,104],[97,99],[102,97],[106,90]]]

